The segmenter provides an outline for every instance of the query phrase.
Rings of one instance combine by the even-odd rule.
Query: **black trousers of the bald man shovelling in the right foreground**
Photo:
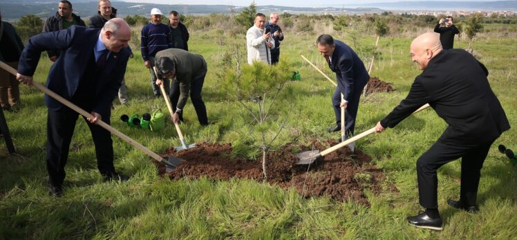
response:
[[[420,205],[424,208],[438,208],[436,170],[458,158],[462,159],[460,201],[465,206],[476,205],[481,168],[494,140],[480,143],[478,146],[453,146],[438,141],[434,143],[417,160]]]

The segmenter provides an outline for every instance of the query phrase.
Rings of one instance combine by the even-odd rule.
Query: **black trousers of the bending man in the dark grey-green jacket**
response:
[[[190,85],[190,100],[192,101],[192,105],[194,105],[194,110],[196,110],[198,121],[201,125],[208,124],[207,107],[205,106],[203,97],[201,97],[201,91],[203,90],[203,83],[205,83],[206,74],[206,72],[204,74],[199,74],[198,77],[192,79]],[[176,111],[176,106],[178,106],[180,94],[180,81],[178,81],[178,79],[173,79],[169,96],[171,97],[171,104],[174,111]],[[180,114],[180,120],[183,121],[182,114]]]

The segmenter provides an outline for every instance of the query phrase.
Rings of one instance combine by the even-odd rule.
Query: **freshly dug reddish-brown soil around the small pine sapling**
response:
[[[335,141],[328,142],[330,146]],[[376,168],[368,155],[360,150],[351,153],[348,148],[320,157],[310,166],[294,165],[298,161],[296,153],[307,150],[325,150],[319,142],[313,142],[314,149],[306,146],[286,146],[281,150],[270,152],[267,168],[267,182],[282,188],[295,188],[303,197],[319,197],[327,195],[337,201],[353,199],[357,203],[368,205],[364,190],[379,193],[382,184],[389,191],[397,189],[385,183],[382,170]],[[171,179],[191,177],[198,179],[205,176],[212,179],[227,180],[232,177],[256,179],[263,181],[262,162],[247,159],[232,159],[232,146],[199,143],[195,148],[176,152],[169,149],[168,155],[186,160],[173,172],[165,173],[164,166],[158,164],[160,174]],[[162,157],[166,157],[163,155]]]

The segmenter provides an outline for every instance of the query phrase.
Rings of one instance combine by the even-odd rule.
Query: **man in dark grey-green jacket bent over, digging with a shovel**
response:
[[[155,58],[155,66],[158,70],[156,85],[161,85],[161,79],[164,77],[167,79],[176,77],[180,83],[180,89],[171,89],[169,93],[172,108],[175,109],[172,121],[175,123],[182,121],[183,108],[190,94],[199,123],[207,126],[207,108],[201,97],[207,74],[207,62],[203,56],[178,48],[169,48],[157,52]]]

